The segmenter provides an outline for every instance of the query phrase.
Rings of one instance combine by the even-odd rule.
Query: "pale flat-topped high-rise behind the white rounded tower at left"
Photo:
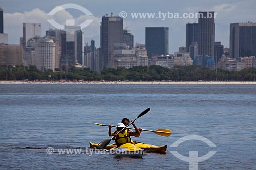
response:
[[[23,48],[34,37],[41,37],[41,23],[23,23]]]

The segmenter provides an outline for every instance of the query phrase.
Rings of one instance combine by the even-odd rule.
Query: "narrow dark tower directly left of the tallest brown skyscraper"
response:
[[[189,52],[189,47],[193,42],[198,41],[198,23],[186,24],[186,52]]]

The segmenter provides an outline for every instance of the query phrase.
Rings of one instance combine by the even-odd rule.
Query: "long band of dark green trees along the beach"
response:
[[[124,67],[106,68],[99,74],[89,68],[75,69],[75,67],[69,66],[68,74],[66,74],[60,70],[42,72],[35,66],[0,66],[0,80],[214,81],[216,78],[218,81],[255,81],[256,68],[244,68],[240,71],[218,69],[218,74],[216,74],[216,70],[195,65],[176,66],[174,69],[152,65],[149,68],[147,66],[136,66],[129,69]]]

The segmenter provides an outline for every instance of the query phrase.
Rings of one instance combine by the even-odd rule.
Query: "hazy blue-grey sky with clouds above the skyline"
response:
[[[145,43],[145,27],[169,27],[169,53],[178,51],[178,47],[185,46],[186,23],[198,22],[198,19],[135,19],[131,13],[197,13],[198,11],[215,11],[215,41],[221,41],[224,47],[229,47],[229,25],[236,22],[256,22],[256,1],[255,0],[0,0],[0,7],[4,9],[4,32],[8,33],[10,44],[19,44],[22,37],[23,22],[42,23],[42,35],[53,26],[48,23],[46,16],[56,6],[73,3],[88,9],[92,14],[93,22],[82,29],[85,41],[95,40],[96,47],[100,44],[100,21],[102,15],[113,12],[119,15],[125,11],[128,15],[124,19],[124,28],[128,28],[135,37],[135,42]],[[55,14],[54,19],[61,24],[65,24],[66,19],[75,19],[79,24],[86,20],[88,16],[78,10],[66,9]],[[256,37],[255,37],[256,38]]]

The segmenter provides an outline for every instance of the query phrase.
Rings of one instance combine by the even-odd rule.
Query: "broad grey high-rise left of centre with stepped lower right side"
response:
[[[102,68],[111,68],[111,53],[114,50],[114,43],[123,43],[123,18],[103,16],[100,27]]]

